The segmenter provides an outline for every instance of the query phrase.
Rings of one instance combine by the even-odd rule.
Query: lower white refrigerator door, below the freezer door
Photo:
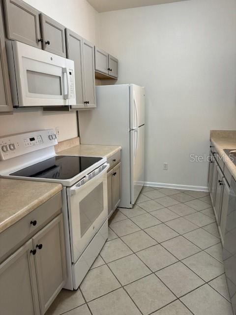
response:
[[[131,204],[144,186],[145,125],[130,131]]]

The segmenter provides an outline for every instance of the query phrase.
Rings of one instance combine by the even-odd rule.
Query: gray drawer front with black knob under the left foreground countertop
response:
[[[29,240],[61,212],[61,193],[53,196],[20,221],[0,233],[0,262]],[[36,225],[30,224],[36,221]]]

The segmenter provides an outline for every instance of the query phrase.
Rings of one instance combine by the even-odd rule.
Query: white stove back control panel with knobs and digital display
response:
[[[56,144],[58,140],[54,129],[0,137],[0,160],[15,158]]]

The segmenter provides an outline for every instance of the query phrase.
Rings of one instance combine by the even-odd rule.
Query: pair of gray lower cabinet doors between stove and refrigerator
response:
[[[116,210],[120,202],[120,162],[107,173],[108,216]]]

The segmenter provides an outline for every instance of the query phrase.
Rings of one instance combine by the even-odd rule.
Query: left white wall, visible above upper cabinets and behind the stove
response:
[[[96,43],[98,13],[86,0],[25,1],[65,27]],[[59,127],[59,141],[76,137],[78,135],[76,112],[16,109],[13,115],[0,115],[0,136],[52,127]]]

